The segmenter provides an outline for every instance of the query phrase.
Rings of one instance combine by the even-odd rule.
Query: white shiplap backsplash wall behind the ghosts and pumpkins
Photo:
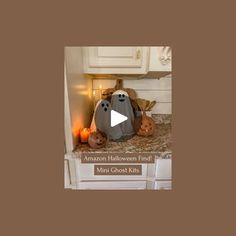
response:
[[[156,100],[157,104],[152,109],[153,114],[171,114],[171,77],[161,79],[125,79],[124,87],[132,88],[137,92],[138,97],[147,100]],[[102,89],[115,86],[115,80],[93,80],[93,89],[99,93],[99,86]]]

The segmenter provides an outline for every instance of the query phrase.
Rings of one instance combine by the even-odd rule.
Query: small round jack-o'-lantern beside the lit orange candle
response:
[[[91,148],[102,148],[107,143],[107,136],[104,132],[97,130],[90,133],[88,138],[88,144]]]

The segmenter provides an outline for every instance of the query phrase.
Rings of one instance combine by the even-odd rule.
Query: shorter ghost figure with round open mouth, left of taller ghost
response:
[[[117,140],[122,137],[119,126],[111,127],[111,104],[107,100],[100,100],[94,112],[96,130],[104,132],[109,139]]]

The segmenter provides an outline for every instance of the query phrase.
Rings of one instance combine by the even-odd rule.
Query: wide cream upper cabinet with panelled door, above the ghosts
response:
[[[85,47],[85,73],[144,74],[147,47]]]

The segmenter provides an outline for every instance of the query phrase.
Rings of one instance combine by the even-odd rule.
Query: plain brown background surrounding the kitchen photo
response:
[[[1,235],[235,234],[235,6],[199,2],[1,1]],[[64,190],[63,48],[131,44],[173,48],[174,188]]]

